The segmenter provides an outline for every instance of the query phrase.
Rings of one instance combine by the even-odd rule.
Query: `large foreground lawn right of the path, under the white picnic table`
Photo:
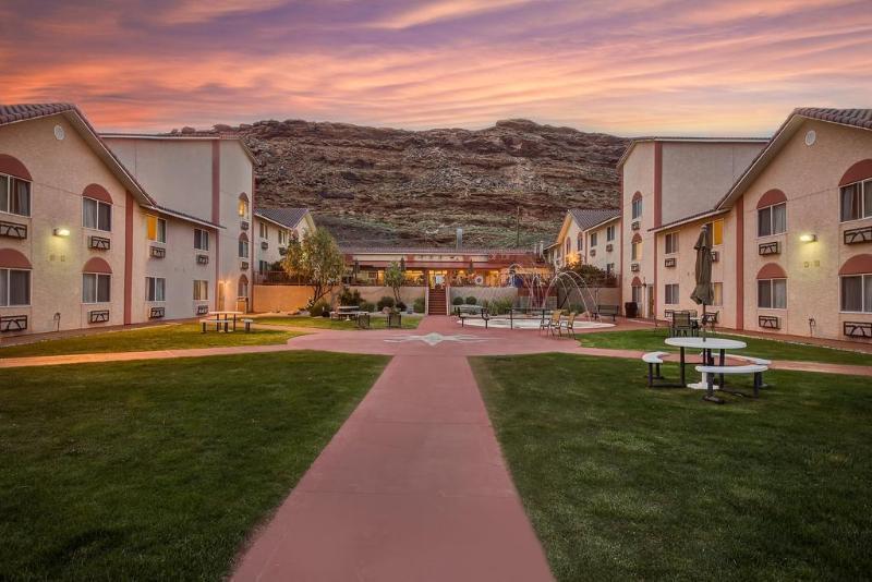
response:
[[[630,360],[544,354],[473,367],[559,580],[872,571],[869,378],[772,372],[759,400],[723,395],[717,405],[695,390],[646,389]],[[677,366],[664,369],[676,377]]]

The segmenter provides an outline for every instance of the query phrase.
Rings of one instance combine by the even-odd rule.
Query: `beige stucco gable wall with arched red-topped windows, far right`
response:
[[[809,130],[816,141],[804,144]],[[759,315],[782,318],[779,332],[810,334],[809,318],[814,318],[818,337],[849,339],[841,324],[870,322],[870,314],[839,313],[838,270],[851,256],[872,253],[869,243],[847,245],[843,231],[872,225],[872,219],[839,223],[838,182],[855,162],[872,158],[872,132],[809,120],[790,138],[744,194],[744,327],[760,329]],[[771,189],[787,196],[787,232],[758,238],[756,204]],[[802,233],[818,235],[818,242],[801,242]],[[758,245],[778,241],[779,255],[759,256]],[[756,274],[766,263],[776,263],[787,272],[787,308],[756,307]]]

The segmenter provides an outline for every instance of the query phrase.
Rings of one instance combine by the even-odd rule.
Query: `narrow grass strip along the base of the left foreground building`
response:
[[[250,334],[245,334],[241,324],[237,327],[237,331],[232,334],[219,334],[214,328],[203,334],[199,324],[169,324],[123,331],[90,334],[73,338],[50,339],[22,345],[0,347],[0,357],[265,345],[284,343],[288,339],[300,335],[293,331],[265,329],[252,329]]]

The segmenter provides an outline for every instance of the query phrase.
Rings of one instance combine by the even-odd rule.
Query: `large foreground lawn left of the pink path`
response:
[[[218,580],[386,359],[3,371],[0,580]]]

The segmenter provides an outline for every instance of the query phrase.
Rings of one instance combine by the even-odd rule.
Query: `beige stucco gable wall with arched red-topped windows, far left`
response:
[[[55,125],[63,129],[62,141],[55,137]],[[0,213],[0,220],[27,226],[27,239],[0,239],[0,248],[15,248],[29,259],[31,306],[0,307],[0,315],[27,315],[27,332],[55,330],[56,313],[60,314],[60,329],[122,324],[124,187],[60,114],[3,125],[0,153],[21,160],[33,177],[31,218]],[[112,196],[111,232],[82,227],[82,192],[92,183],[104,186]],[[52,230],[59,227],[70,229],[70,237],[55,237]],[[92,234],[110,239],[110,250],[89,250]],[[92,256],[106,259],[112,268],[109,303],[82,303],[82,268]],[[89,311],[107,308],[108,323],[88,324]]]

